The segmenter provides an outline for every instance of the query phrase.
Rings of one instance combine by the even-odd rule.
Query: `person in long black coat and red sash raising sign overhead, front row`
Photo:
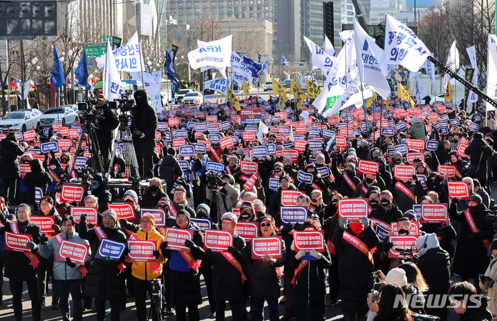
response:
[[[344,311],[344,319],[355,320],[355,315],[358,315],[359,320],[366,320],[366,299],[373,289],[373,263],[365,253],[344,239],[344,232],[364,242],[370,251],[379,244],[379,239],[373,231],[371,221],[366,217],[360,222],[350,223],[345,217],[341,218],[332,239],[338,254],[341,309]]]

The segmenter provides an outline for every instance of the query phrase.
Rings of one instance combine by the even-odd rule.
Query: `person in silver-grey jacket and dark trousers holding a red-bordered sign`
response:
[[[62,257],[58,257],[60,246],[62,241],[75,242],[80,244],[85,244],[90,246],[87,240],[83,240],[74,230],[75,222],[72,216],[66,215],[62,219],[62,232],[51,237],[47,244],[39,244],[39,246],[33,242],[29,242],[28,247],[33,249],[39,249],[39,255],[44,257],[46,260],[53,260],[53,278],[55,279],[55,285],[57,286],[57,293],[59,294],[59,307],[64,318],[68,318],[70,315],[69,309],[69,293],[71,293],[71,298],[73,298],[73,309],[71,314],[73,315],[73,320],[81,321],[83,320],[83,304],[82,304],[82,293],[81,287],[83,282],[83,277],[81,267],[84,265],[76,264],[71,261],[71,257],[66,256],[65,260],[61,261]],[[79,252],[73,252],[79,253]],[[90,255],[83,257],[85,262],[90,260]]]

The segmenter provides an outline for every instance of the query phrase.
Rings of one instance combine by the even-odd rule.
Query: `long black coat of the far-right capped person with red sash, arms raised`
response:
[[[487,270],[489,257],[482,240],[491,242],[494,230],[487,223],[483,206],[479,204],[475,211],[470,211],[473,221],[480,232],[473,233],[466,220],[465,212],[456,211],[456,204],[451,204],[451,219],[461,222],[459,242],[454,255],[454,272],[465,278],[475,278]]]

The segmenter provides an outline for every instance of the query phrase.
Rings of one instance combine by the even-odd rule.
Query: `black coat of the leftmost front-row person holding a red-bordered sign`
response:
[[[0,233],[3,234],[4,231],[12,232],[9,224],[10,221],[3,220],[3,215],[0,216],[2,217],[2,223],[5,225],[0,227]],[[29,220],[24,223],[19,221],[13,222],[17,224],[17,230],[20,234],[31,235],[32,242],[39,244],[41,238],[39,226]],[[8,251],[8,259],[5,266],[6,277],[12,280],[34,281],[37,278],[38,269],[33,269],[29,263],[30,260],[24,253]]]

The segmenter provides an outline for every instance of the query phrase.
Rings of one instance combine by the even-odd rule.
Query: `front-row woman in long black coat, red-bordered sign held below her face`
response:
[[[316,231],[321,230],[319,220],[309,218],[303,222],[302,229],[314,228]],[[326,319],[326,270],[330,267],[331,257],[328,252],[328,246],[324,246],[324,252],[319,253],[315,250],[308,253],[316,260],[309,260],[306,266],[295,273],[295,319],[297,321],[306,320],[325,320]],[[305,251],[290,251],[290,260],[294,266],[301,264],[301,259],[306,255]],[[297,268],[298,269],[298,268]]]

